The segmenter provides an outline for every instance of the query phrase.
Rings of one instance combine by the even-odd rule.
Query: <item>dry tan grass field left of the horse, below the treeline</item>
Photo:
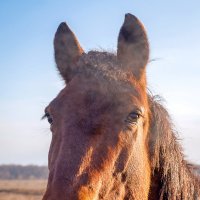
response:
[[[0,200],[41,200],[46,180],[0,180]]]

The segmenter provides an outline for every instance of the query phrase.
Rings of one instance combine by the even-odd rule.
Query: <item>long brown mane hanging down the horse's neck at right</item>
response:
[[[200,179],[178,142],[177,132],[159,98],[149,95],[150,199],[188,200],[200,198]]]

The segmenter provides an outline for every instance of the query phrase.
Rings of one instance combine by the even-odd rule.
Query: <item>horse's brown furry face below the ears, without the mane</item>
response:
[[[135,131],[131,133],[124,124],[135,106],[143,105],[148,109],[145,93],[134,77],[126,77],[121,73],[113,76],[109,73],[109,67],[112,66],[107,66],[105,70],[104,62],[94,66],[91,55],[97,63],[98,59],[105,57],[109,57],[110,61],[116,59],[114,55],[104,52],[83,55],[77,64],[78,76],[47,107],[55,124],[52,126],[52,143],[55,144],[50,149],[50,175],[44,199],[67,199],[66,196],[80,200],[147,199],[150,184],[150,163],[145,139],[148,110],[144,127],[142,121],[142,126],[138,124],[141,130],[134,128]],[[86,57],[88,65],[83,66]],[[66,122],[63,123],[66,125],[59,118],[64,118]],[[68,133],[63,132],[65,135],[61,136],[59,126],[65,126]],[[73,154],[67,153],[69,146],[72,146]],[[72,166],[67,162],[71,162]],[[143,174],[143,171],[146,173]],[[62,181],[65,175],[73,177],[70,181]],[[74,181],[71,182],[71,179]],[[68,182],[74,184],[71,189],[73,193],[67,192]]]

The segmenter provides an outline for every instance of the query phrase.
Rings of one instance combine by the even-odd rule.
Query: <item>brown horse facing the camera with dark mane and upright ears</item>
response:
[[[125,15],[116,55],[85,53],[64,22],[54,51],[65,87],[45,108],[52,141],[43,200],[198,199],[198,176],[148,93],[149,42],[139,19]]]

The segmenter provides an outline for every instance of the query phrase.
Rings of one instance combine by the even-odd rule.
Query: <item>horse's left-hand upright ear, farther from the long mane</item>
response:
[[[55,61],[66,82],[72,79],[76,62],[84,52],[74,33],[65,22],[61,23],[54,38]]]

